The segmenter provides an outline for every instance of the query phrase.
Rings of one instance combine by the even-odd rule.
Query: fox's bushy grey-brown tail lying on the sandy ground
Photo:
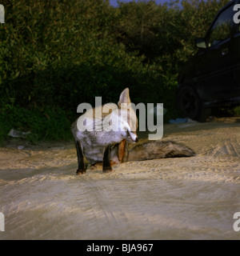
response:
[[[196,155],[188,146],[172,141],[150,141],[134,146],[127,161],[141,161],[157,158],[180,158]]]

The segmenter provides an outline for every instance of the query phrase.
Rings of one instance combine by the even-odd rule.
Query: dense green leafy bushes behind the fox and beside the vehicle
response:
[[[150,2],[11,0],[0,24],[0,140],[70,138],[78,104],[162,102],[177,117],[178,66],[227,0]]]

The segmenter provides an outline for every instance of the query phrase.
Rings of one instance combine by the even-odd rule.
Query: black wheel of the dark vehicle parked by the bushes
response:
[[[185,118],[198,122],[206,121],[210,115],[210,108],[202,106],[201,98],[191,86],[183,86],[178,90],[178,108]]]

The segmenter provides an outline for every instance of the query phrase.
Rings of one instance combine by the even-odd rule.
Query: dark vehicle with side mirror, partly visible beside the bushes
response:
[[[203,122],[214,106],[240,105],[240,24],[234,22],[237,4],[240,0],[219,10],[206,37],[195,39],[197,54],[179,71],[178,107],[185,117]]]

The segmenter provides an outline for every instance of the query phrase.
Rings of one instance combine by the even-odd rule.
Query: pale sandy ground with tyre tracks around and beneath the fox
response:
[[[110,174],[75,175],[73,142],[11,141],[0,148],[0,239],[240,239],[240,122],[225,121],[166,125],[163,139],[196,157]]]

